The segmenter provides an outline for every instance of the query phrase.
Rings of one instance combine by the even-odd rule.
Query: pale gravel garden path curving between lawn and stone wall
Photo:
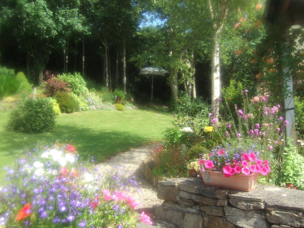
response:
[[[136,177],[136,181],[138,182],[138,187],[141,189],[140,192],[135,192],[132,196],[139,202],[141,202],[141,206],[137,212],[141,213],[142,211],[145,214],[149,215],[153,225],[148,225],[147,223],[137,223],[137,228],[174,228],[175,226],[168,224],[164,221],[158,220],[155,218],[155,206],[161,205],[163,200],[157,199],[157,189],[154,188],[148,182],[143,175],[141,174],[141,163],[147,157],[149,152],[158,148],[160,144],[150,144],[146,146],[142,146],[139,148],[131,148],[130,150],[120,153],[111,159],[100,163],[97,166],[99,171],[109,170],[113,166],[125,167],[125,169],[131,172],[131,175]],[[135,190],[135,188],[133,189]],[[132,191],[132,189],[131,189]]]

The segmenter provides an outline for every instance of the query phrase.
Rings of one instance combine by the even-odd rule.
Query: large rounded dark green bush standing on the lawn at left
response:
[[[21,101],[9,117],[8,127],[16,132],[44,133],[55,126],[55,112],[47,98]]]

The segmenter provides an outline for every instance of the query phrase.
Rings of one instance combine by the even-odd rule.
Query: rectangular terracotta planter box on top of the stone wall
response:
[[[249,192],[257,185],[258,174],[237,174],[226,178],[218,171],[200,171],[205,185],[232,188]]]

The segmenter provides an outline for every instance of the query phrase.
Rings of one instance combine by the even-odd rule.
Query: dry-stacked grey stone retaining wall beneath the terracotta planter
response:
[[[304,191],[258,185],[250,192],[204,185],[200,178],[158,182],[156,217],[181,228],[304,227]]]

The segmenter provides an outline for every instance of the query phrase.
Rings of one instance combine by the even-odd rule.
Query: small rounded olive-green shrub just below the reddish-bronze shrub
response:
[[[78,100],[69,93],[58,92],[55,98],[59,104],[61,112],[72,113],[77,111],[79,108]]]

